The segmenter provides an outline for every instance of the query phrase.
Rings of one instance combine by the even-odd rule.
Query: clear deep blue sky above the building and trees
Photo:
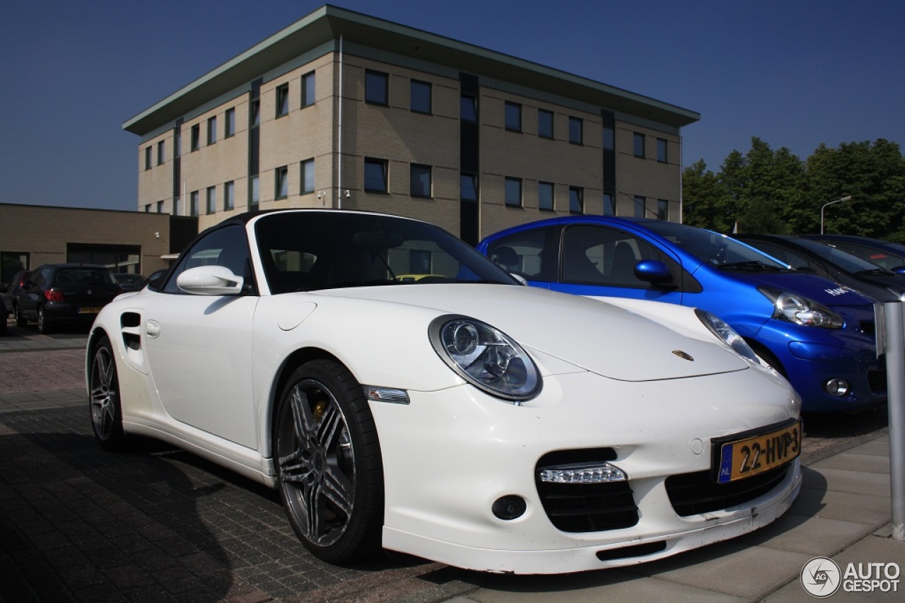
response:
[[[134,210],[124,121],[323,5],[5,0],[0,202]],[[905,145],[901,0],[334,0],[700,112],[683,163],[750,139]]]

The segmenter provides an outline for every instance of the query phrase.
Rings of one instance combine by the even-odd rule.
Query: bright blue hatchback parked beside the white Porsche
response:
[[[788,378],[805,412],[886,402],[873,300],[729,236],[662,220],[576,215],[504,230],[478,250],[536,287],[711,311]]]

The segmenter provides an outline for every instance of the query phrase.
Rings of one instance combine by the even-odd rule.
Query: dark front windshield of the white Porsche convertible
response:
[[[274,213],[262,215],[254,232],[274,293],[431,282],[518,283],[446,231],[390,215]]]

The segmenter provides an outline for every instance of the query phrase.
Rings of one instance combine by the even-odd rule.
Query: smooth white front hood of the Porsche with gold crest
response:
[[[673,330],[674,309],[668,308],[673,311],[660,319],[657,310],[669,304],[658,302],[649,302],[653,313],[649,317],[645,315],[647,308],[643,313],[534,287],[478,283],[367,287],[319,295],[462,314],[502,330],[526,349],[625,381],[686,378],[749,368],[748,361],[712,336],[692,310],[682,317],[691,324],[676,325]],[[546,370],[553,369],[548,366]]]

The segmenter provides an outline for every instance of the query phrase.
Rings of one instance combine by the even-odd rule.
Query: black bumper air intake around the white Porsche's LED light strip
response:
[[[638,523],[638,507],[628,482],[541,482],[542,469],[563,464],[601,463],[616,457],[612,448],[563,450],[545,455],[537,466],[536,483],[547,517],[558,530],[607,531]]]

